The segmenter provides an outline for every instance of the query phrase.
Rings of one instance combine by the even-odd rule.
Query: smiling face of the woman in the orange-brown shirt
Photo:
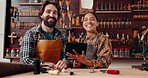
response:
[[[83,27],[86,32],[96,31],[97,24],[97,19],[92,13],[88,13],[84,16]]]

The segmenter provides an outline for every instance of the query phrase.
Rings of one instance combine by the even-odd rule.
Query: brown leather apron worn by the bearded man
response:
[[[44,62],[57,63],[60,60],[63,44],[58,40],[39,40],[36,47],[36,56]]]

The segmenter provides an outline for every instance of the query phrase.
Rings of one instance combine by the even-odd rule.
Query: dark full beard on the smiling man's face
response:
[[[50,19],[52,19],[52,21],[48,21]],[[54,28],[57,22],[55,17],[43,18],[43,21],[44,21],[44,24],[49,28]]]

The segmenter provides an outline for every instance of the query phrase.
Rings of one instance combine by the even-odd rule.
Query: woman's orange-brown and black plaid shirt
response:
[[[96,33],[93,37],[83,36],[80,42],[87,44],[94,44],[96,52],[93,52],[96,55],[96,58],[89,59],[94,67],[97,68],[107,68],[111,64],[113,55],[112,55],[112,45],[109,41],[109,38],[101,33]],[[87,56],[86,56],[87,58]]]

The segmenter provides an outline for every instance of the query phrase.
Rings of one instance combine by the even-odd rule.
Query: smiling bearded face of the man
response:
[[[50,28],[55,27],[57,19],[58,19],[57,8],[52,4],[48,4],[45,7],[45,10],[44,10],[41,18],[47,27],[50,27]]]

